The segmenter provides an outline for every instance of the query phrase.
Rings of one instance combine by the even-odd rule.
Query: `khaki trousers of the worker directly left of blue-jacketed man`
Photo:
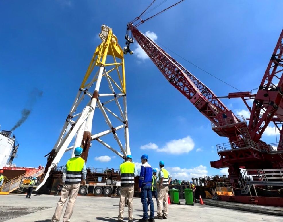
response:
[[[119,203],[119,217],[118,220],[124,219],[124,207],[125,201],[128,199],[128,213],[129,220],[133,220],[133,197],[134,197],[134,186],[120,187],[120,203]]]

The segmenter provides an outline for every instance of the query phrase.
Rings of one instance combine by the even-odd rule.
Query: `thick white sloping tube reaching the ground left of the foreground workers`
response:
[[[74,128],[72,130],[69,130],[67,135],[64,137],[63,141],[61,142],[62,145],[59,147],[59,152],[57,153],[56,157],[53,159],[51,166],[48,168],[48,171],[43,181],[41,182],[41,184],[39,184],[39,186],[36,188],[36,191],[39,190],[45,184],[47,178],[50,175],[51,169],[57,166],[63,154],[65,153],[66,149],[68,148],[70,142],[75,136],[76,132],[79,130],[82,124],[86,121],[86,118],[88,117],[89,113],[90,113],[90,107],[84,108],[84,110],[82,111],[82,115],[80,116],[80,118],[77,119]]]

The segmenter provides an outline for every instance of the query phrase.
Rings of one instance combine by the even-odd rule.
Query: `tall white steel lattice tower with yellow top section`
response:
[[[119,157],[125,158],[126,155],[131,154],[123,49],[118,44],[112,29],[106,25],[102,25],[99,36],[102,43],[94,52],[59,138],[48,154],[46,175],[37,190],[46,182],[51,169],[57,166],[66,151],[73,150],[72,156],[74,156],[74,148],[80,146],[83,148],[82,158],[87,161],[93,140],[98,141]],[[108,92],[104,93],[107,90]],[[90,100],[83,104],[86,98]],[[100,128],[94,120],[94,111],[97,108],[101,111],[101,118],[105,119],[108,129],[93,133]],[[97,111],[95,113],[97,115]],[[117,125],[114,126],[114,123]],[[121,137],[118,136],[118,132],[122,129],[124,129],[124,145],[120,140]],[[101,139],[108,134],[113,135],[114,140],[110,139],[112,140],[110,141],[109,137],[108,140],[117,144],[118,149]],[[73,140],[75,140],[74,145],[69,146]]]

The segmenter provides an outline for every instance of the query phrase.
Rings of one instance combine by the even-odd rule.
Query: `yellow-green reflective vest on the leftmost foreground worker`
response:
[[[65,184],[79,184],[82,179],[82,169],[84,168],[84,159],[82,157],[73,157],[66,164]]]

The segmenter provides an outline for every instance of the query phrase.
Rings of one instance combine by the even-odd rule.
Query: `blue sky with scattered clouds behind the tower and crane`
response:
[[[1,129],[13,127],[34,87],[43,91],[27,121],[14,131],[20,143],[19,157],[14,161],[18,166],[46,165],[44,155],[54,146],[100,43],[97,35],[101,25],[113,28],[123,47],[127,22],[150,2],[1,1]],[[167,1],[152,13],[171,3]],[[282,30],[276,18],[282,6],[281,1],[185,1],[139,26],[139,30],[236,88],[250,91],[259,86]],[[221,173],[210,168],[209,162],[218,160],[216,144],[227,139],[211,130],[208,119],[167,82],[137,45],[132,48],[135,54],[127,55],[125,64],[133,160],[140,162],[144,153],[153,167],[163,160],[176,179]],[[235,92],[168,53],[216,95]],[[241,100],[222,101],[235,114],[247,114]],[[263,139],[276,142],[274,132],[270,127]],[[178,152],[174,153],[176,148]],[[101,156],[111,160],[100,162],[109,160]],[[66,153],[60,164],[68,158]],[[93,143],[87,165],[116,169],[121,161]]]

